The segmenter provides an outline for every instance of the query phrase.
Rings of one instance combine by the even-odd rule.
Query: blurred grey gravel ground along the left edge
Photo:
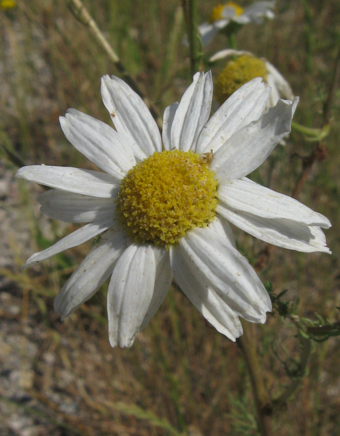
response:
[[[52,352],[42,353],[49,332],[38,322],[37,309],[27,307],[27,293],[10,277],[19,271],[18,259],[32,252],[30,232],[22,219],[20,192],[13,174],[13,169],[0,162],[3,235],[0,238],[0,434],[61,436],[65,434],[63,430],[58,430],[48,418],[49,405],[44,410],[42,402],[34,397],[37,389],[33,389],[37,374],[51,373],[56,360]],[[70,377],[70,372],[64,372],[65,383]],[[61,386],[51,386],[46,395],[62,412],[74,413],[75,402],[70,398],[65,401],[57,388]]]

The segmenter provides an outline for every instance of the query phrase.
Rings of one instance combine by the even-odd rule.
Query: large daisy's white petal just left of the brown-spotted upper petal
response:
[[[60,117],[66,138],[101,170],[122,179],[135,164],[132,150],[112,127],[76,109]]]

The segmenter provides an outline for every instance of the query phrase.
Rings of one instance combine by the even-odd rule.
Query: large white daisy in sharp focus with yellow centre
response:
[[[176,280],[216,329],[235,341],[239,317],[264,323],[270,298],[237,251],[227,221],[263,241],[324,251],[330,222],[300,202],[245,176],[291,128],[297,99],[263,115],[270,89],[255,78],[210,118],[211,73],[197,73],[180,103],[165,109],[163,147],[141,98],[117,77],[102,78],[103,102],[116,128],[69,109],[68,140],[102,171],[27,166],[16,176],[53,189],[40,196],[51,218],[87,224],[25,266],[103,234],[55,299],[63,317],[111,276],[112,346],[130,347]]]

